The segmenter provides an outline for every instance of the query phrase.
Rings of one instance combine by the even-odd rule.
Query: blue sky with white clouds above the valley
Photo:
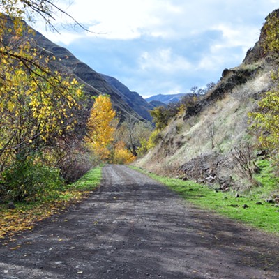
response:
[[[188,93],[239,66],[278,0],[60,0],[90,32],[56,15],[34,28],[144,98]]]

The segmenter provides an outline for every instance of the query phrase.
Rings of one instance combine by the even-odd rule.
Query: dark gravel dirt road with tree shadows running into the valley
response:
[[[0,278],[279,278],[279,239],[107,165],[82,204],[0,247]]]

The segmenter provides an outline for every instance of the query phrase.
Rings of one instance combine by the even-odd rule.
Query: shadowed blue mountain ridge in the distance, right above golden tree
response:
[[[119,96],[121,96],[123,100],[125,100],[125,102],[137,112],[137,114],[146,120],[152,121],[149,110],[153,110],[153,105],[147,103],[137,92],[130,91],[127,86],[119,82],[119,80],[116,80],[116,78],[103,74],[101,76],[112,89],[114,89]]]

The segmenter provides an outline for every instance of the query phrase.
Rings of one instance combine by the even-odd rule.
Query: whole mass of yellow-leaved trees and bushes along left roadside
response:
[[[0,204],[54,198],[96,162],[83,144],[92,100],[56,57],[33,40],[25,20],[67,13],[51,1],[1,1]]]

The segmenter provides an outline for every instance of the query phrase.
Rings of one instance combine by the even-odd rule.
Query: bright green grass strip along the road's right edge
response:
[[[165,184],[168,188],[179,193],[183,199],[201,207],[202,209],[210,209],[217,213],[227,216],[232,219],[241,220],[266,232],[273,232],[279,234],[279,207],[265,202],[262,198],[262,192],[267,194],[271,189],[276,187],[276,179],[268,183],[266,188],[263,186],[262,192],[255,193],[243,197],[235,197],[236,193],[216,192],[207,186],[200,185],[191,181],[182,181],[180,179],[170,179],[156,174],[151,174],[137,167],[134,169],[140,170],[151,178]],[[269,172],[269,176],[271,173]],[[266,178],[266,176],[264,176]],[[272,179],[271,179],[272,181]],[[263,181],[261,181],[263,182]],[[266,182],[267,183],[267,182]],[[278,188],[278,184],[277,184]],[[256,204],[262,202],[262,204]],[[248,208],[244,209],[242,206],[246,204]]]

